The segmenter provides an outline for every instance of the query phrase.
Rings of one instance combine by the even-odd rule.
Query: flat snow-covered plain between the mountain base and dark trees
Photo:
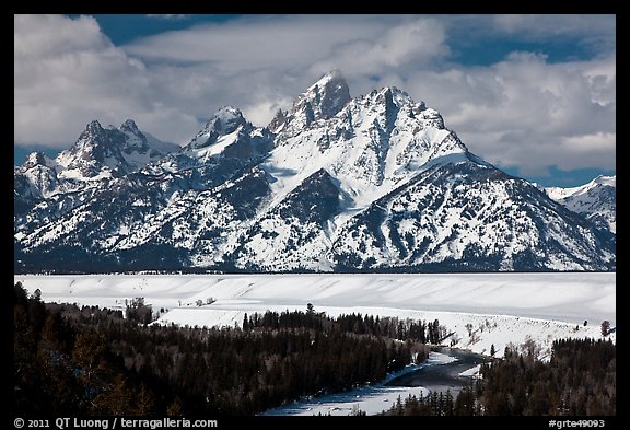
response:
[[[555,339],[599,338],[603,321],[616,325],[614,272],[16,275],[14,280],[51,302],[124,309],[142,297],[159,314],[156,324],[240,326],[245,313],[305,311],[307,303],[330,316],[439,319],[454,332],[445,345],[486,355],[494,345],[498,357],[509,344],[530,339],[545,358]]]

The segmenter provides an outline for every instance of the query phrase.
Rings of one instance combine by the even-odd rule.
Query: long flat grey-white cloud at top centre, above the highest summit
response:
[[[142,58],[213,63],[218,72],[279,66],[290,70],[327,55],[341,40],[371,37],[374,25],[362,25],[370,21],[376,20],[339,15],[246,16],[147,37],[125,49]]]

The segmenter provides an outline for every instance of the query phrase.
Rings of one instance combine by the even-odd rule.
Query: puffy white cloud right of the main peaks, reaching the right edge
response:
[[[523,175],[550,165],[615,170],[614,57],[548,63],[545,56],[514,53],[490,67],[416,77],[409,92],[438,108],[491,163]]]

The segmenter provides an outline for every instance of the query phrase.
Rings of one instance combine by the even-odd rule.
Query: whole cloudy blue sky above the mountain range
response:
[[[616,173],[615,15],[15,15],[14,142],[69,148],[85,125],[187,143],[221,106],[264,126],[339,68],[398,86],[468,149],[542,185]]]

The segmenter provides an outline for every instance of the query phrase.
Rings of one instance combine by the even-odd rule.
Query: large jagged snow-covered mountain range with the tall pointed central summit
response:
[[[155,158],[130,156],[148,153],[133,129],[92,123],[15,170],[15,270],[615,269],[614,234],[405,92],[351,98],[338,70],[268,127],[226,106]]]

